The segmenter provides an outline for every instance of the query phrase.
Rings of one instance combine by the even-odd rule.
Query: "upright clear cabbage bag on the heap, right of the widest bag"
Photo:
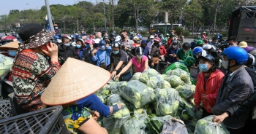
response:
[[[178,91],[173,88],[160,89],[156,93],[157,109],[159,116],[171,115],[173,117],[178,116]]]

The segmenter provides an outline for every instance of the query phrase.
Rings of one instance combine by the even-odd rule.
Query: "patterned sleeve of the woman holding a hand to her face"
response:
[[[31,65],[31,74],[34,74],[35,80],[39,79],[41,82],[47,82],[52,79],[53,76],[59,71],[61,65],[57,62],[50,62],[44,58],[42,55],[39,55],[37,60],[34,60],[34,63]]]

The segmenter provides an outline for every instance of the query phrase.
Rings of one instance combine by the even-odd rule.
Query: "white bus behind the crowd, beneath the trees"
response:
[[[171,31],[175,31],[176,28],[182,26],[181,24],[173,24],[173,29],[171,29],[170,23],[166,23],[167,27],[167,33],[171,33]],[[151,32],[157,33],[157,30],[161,31],[163,29],[165,31],[165,23],[159,23],[159,24],[151,24]],[[165,33],[165,32],[164,32]]]

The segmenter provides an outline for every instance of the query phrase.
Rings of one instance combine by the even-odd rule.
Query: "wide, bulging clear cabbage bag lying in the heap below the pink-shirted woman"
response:
[[[126,86],[121,87],[120,94],[121,97],[132,103],[135,108],[151,103],[155,98],[154,90],[138,80],[127,82]]]

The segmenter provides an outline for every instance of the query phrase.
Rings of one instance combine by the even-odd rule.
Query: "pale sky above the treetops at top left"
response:
[[[75,4],[78,0],[48,0],[49,4]],[[80,0],[83,1],[83,0]],[[92,3],[100,2],[102,0],[86,0],[91,1]],[[4,6],[7,5],[7,6]],[[4,4],[1,4],[0,15],[9,14],[11,9],[40,9],[45,5],[45,0],[7,0],[4,1]]]

